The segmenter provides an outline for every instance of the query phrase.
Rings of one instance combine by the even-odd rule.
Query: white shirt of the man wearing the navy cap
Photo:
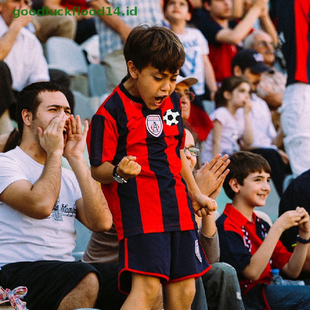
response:
[[[272,140],[277,136],[270,110],[266,101],[259,98],[256,94],[251,95],[252,108],[249,113],[250,122],[253,132],[253,148],[274,148]],[[237,121],[244,119],[244,108],[239,108],[236,112]]]

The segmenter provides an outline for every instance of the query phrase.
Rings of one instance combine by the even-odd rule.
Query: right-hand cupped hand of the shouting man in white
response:
[[[76,117],[71,114],[67,121],[67,141],[64,148],[64,157],[72,159],[73,157],[83,156],[84,149],[86,146],[86,135],[88,131],[88,122],[84,122],[84,132],[82,132],[81,118],[79,115]],[[66,128],[64,128],[66,129]]]

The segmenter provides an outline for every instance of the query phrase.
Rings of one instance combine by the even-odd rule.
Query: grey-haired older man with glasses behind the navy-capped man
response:
[[[267,102],[272,113],[272,122],[277,129],[280,124],[280,114],[277,109],[282,103],[286,75],[274,66],[276,56],[272,38],[263,30],[255,30],[245,38],[244,47],[261,53],[264,64],[271,69],[262,73],[262,79],[257,86],[257,95]]]

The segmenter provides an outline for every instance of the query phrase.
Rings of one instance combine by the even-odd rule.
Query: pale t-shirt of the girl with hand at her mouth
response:
[[[237,120],[231,115],[227,108],[220,107],[211,113],[210,119],[212,122],[217,119],[222,125],[222,137],[220,142],[221,154],[231,155],[232,153],[238,151],[237,140],[242,137],[245,128],[244,116],[240,120]],[[210,160],[213,158],[212,150],[213,130],[210,131],[207,139],[202,144],[200,157],[203,163],[210,162]]]

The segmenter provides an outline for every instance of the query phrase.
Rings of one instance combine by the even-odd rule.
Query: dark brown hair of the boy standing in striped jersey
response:
[[[176,73],[185,61],[181,41],[171,30],[162,26],[142,25],[132,29],[124,46],[124,56],[126,63],[131,60],[139,72],[151,65],[160,72],[169,70]]]

